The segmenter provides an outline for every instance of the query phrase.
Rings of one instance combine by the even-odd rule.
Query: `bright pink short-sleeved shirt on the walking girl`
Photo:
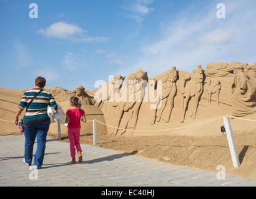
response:
[[[78,111],[78,108],[68,109],[66,115],[69,116],[69,124],[67,127],[69,129],[81,128],[80,121],[84,114],[85,112],[83,109],[80,109],[80,111]]]

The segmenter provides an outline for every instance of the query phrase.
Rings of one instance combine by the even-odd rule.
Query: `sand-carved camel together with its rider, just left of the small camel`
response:
[[[193,70],[192,76],[185,75],[182,77],[182,83],[180,88],[180,95],[183,97],[182,100],[182,119],[180,123],[184,122],[185,112],[187,106],[189,105],[189,100],[191,97],[195,97],[194,113],[190,116],[195,118],[197,114],[197,108],[200,101],[200,97],[203,93],[203,83],[204,83],[204,72],[202,67],[199,65],[197,69]]]

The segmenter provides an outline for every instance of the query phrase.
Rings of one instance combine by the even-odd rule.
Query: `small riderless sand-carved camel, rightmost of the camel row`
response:
[[[212,94],[217,94],[217,103],[220,104],[220,81],[217,79],[205,80],[207,83],[206,91],[207,91],[207,101],[211,103]]]

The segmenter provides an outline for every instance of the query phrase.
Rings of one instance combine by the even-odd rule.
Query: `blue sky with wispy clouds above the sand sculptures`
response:
[[[255,0],[0,0],[0,87],[31,88],[40,75],[47,87],[94,90],[97,80],[137,69],[151,78],[173,65],[252,64],[255,19]]]

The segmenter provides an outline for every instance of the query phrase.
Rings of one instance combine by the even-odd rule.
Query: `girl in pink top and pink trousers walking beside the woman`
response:
[[[70,164],[76,164],[76,150],[78,156],[78,163],[82,162],[82,149],[79,143],[80,140],[80,129],[81,129],[81,118],[86,123],[86,116],[83,109],[81,109],[81,101],[76,96],[72,96],[70,99],[72,108],[67,110],[66,123],[67,133],[69,134],[70,152],[72,161]],[[76,146],[76,149],[75,149]]]

